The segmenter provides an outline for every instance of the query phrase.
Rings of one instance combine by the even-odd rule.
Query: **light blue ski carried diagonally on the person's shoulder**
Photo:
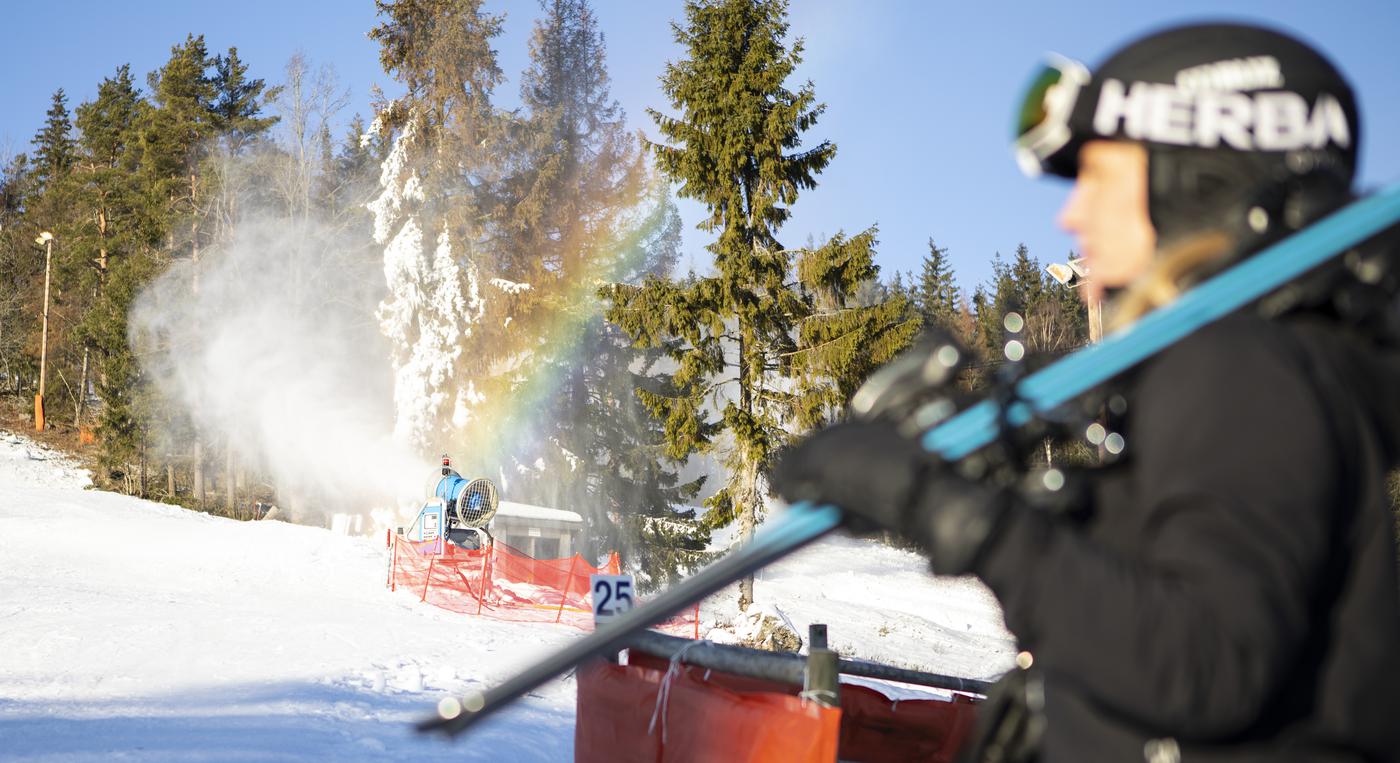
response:
[[[1005,410],[983,400],[928,430],[924,447],[945,461],[958,461],[991,444],[1002,426],[1022,426],[1054,410],[1170,347],[1197,329],[1224,318],[1326,265],[1400,223],[1400,183],[1361,199],[1308,228],[1263,249],[1184,293],[1170,305],[1141,318],[1103,342],[1070,354],[1028,375],[1016,385]],[[694,602],[830,533],[841,524],[833,505],[799,503],[771,517],[753,539],[700,573],[616,616],[568,647],[540,659],[504,683],[448,699],[419,731],[456,735],[540,685],[629,645],[633,634],[655,626]]]

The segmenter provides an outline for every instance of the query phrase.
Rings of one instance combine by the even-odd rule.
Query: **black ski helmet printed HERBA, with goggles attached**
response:
[[[1303,42],[1196,24],[1141,38],[1092,73],[1051,59],[1032,80],[1016,125],[1023,171],[1072,178],[1096,139],[1147,147],[1159,245],[1221,230],[1247,253],[1347,200],[1359,120],[1351,85]]]

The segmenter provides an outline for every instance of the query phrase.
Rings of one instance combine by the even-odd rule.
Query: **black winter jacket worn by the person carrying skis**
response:
[[[1014,511],[979,564],[1039,760],[1400,760],[1400,356],[1242,315],[1126,385],[1089,518]]]

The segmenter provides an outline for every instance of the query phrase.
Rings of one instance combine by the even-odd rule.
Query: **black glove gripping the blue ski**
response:
[[[788,503],[836,504],[854,532],[895,531],[932,559],[938,574],[974,570],[1009,496],[974,483],[888,421],[827,427],[778,458],[773,490]]]

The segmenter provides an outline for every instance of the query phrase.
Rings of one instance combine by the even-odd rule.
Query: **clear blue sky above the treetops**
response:
[[[507,14],[497,52],[512,105],[535,0],[487,0]],[[634,127],[655,137],[645,108],[666,106],[657,84],[680,56],[671,22],[680,0],[595,0],[608,38],[613,95]],[[370,87],[392,84],[365,36],[370,0],[64,1],[14,3],[10,45],[0,49],[0,153],[27,151],[59,87],[70,108],[91,98],[102,77],[130,63],[144,83],[171,45],[203,34],[211,50],[237,46],[258,77],[279,81],[301,50],[333,66],[351,91],[344,118],[368,115]],[[1011,112],[1044,52],[1091,66],[1123,41],[1186,20],[1267,22],[1323,48],[1351,77],[1362,104],[1362,183],[1400,179],[1400,3],[1203,1],[966,3],[795,0],[791,31],[806,39],[798,76],[812,80],[827,112],[809,133],[837,157],[820,186],[798,200],[783,239],[801,245],[839,230],[879,224],[878,262],[914,270],[934,237],[948,246],[965,287],[986,280],[995,252],[1025,242],[1042,260],[1061,259],[1071,241],[1053,218],[1068,186],[1028,181],[1008,150]],[[50,32],[50,29],[62,29]],[[699,210],[683,204],[687,223]],[[687,227],[686,258],[704,270],[707,234]]]

